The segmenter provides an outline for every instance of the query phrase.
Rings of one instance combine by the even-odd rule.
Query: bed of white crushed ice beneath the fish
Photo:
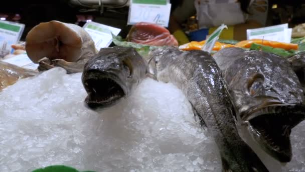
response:
[[[214,141],[173,84],[147,78],[131,97],[94,112],[83,105],[80,77],[54,68],[0,93],[0,171],[221,171]],[[304,133],[304,122],[292,131],[293,159],[282,168],[260,155],[270,171],[305,170]]]

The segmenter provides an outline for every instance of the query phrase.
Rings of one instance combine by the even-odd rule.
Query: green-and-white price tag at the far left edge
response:
[[[0,57],[13,51],[11,45],[20,40],[24,28],[24,24],[0,20]]]

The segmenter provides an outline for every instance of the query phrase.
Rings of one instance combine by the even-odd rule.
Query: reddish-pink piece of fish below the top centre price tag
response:
[[[147,22],[139,22],[133,25],[126,40],[150,46],[178,46],[178,41],[169,30]]]

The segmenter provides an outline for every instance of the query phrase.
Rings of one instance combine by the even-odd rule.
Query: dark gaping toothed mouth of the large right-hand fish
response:
[[[254,108],[248,113],[248,129],[252,138],[272,157],[280,162],[292,158],[291,129],[305,119],[305,106],[272,104]]]

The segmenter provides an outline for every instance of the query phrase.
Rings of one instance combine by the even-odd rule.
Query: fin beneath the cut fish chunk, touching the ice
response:
[[[55,59],[52,60],[52,63],[56,67],[64,68],[67,71],[67,73],[78,73],[84,70],[84,66],[86,62],[85,61],[68,62],[64,59]]]

